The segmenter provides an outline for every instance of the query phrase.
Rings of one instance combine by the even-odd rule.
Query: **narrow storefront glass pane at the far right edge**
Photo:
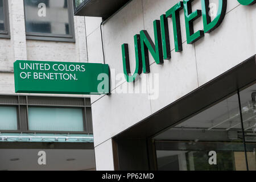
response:
[[[250,171],[256,171],[256,84],[240,92],[246,154]]]

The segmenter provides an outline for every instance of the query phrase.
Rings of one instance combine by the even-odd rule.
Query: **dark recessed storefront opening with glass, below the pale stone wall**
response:
[[[115,169],[256,170],[255,96],[252,56],[115,136]]]

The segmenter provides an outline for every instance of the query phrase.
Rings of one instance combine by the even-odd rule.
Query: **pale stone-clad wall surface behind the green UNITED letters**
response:
[[[129,44],[130,67],[133,73],[135,69],[133,36],[139,34],[141,30],[147,30],[154,42],[153,21],[160,19],[160,15],[165,14],[177,2],[176,0],[133,0],[102,26],[105,62],[110,65],[110,69],[114,69],[112,70],[112,92],[115,93],[111,96],[92,96],[96,161],[101,159],[101,152],[104,152],[102,147],[112,145],[111,142],[105,141],[109,141],[142,119],[255,55],[256,5],[242,6],[238,1],[228,0],[226,15],[220,27],[210,34],[205,34],[204,38],[194,44],[186,42],[184,11],[181,10],[183,52],[178,53],[174,50],[172,20],[169,19],[172,58],[164,60],[163,65],[158,65],[150,55],[151,74],[156,73],[159,78],[158,97],[148,99],[152,97],[155,90],[152,89],[154,85],[150,81],[150,75],[146,74],[142,74],[142,77],[147,78],[147,85],[144,86],[147,88],[147,93],[117,94],[116,92],[123,86],[130,86],[133,89],[138,89],[140,86],[138,82],[127,84],[123,76],[115,77],[123,73],[121,45]],[[215,0],[212,2],[218,3]],[[199,0],[192,3],[192,10],[196,9],[201,10]],[[194,28],[195,31],[203,30],[202,17],[194,22]],[[90,32],[89,61],[96,59],[102,61],[99,37],[100,28]],[[106,166],[104,160],[101,161],[97,162],[97,168],[101,165]],[[112,164],[109,164],[109,169],[113,169]]]

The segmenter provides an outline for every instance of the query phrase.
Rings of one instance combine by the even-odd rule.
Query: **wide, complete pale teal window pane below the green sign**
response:
[[[29,107],[28,130],[31,131],[84,131],[82,109]]]

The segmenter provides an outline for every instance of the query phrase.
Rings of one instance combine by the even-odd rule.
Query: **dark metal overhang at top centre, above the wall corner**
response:
[[[109,18],[131,0],[73,0],[76,16],[98,16]]]

